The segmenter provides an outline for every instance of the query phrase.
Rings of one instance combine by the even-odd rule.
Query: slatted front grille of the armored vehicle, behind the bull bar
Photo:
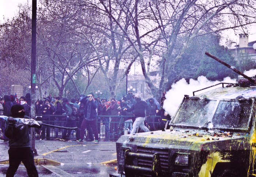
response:
[[[154,148],[137,146],[137,153],[148,154],[148,155],[159,153],[162,172],[169,171],[168,170],[169,169],[169,150],[168,149],[154,149]],[[138,166],[151,168],[151,165],[152,165],[152,160],[138,158]]]

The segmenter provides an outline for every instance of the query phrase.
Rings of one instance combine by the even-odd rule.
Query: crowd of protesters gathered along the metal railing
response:
[[[132,94],[131,91],[120,100],[94,98],[93,93],[89,95],[80,94],[80,98],[60,97],[49,94],[43,100],[35,103],[35,118],[45,124],[59,126],[53,129],[54,138],[60,141],[67,141],[72,131],[61,127],[78,127],[76,137],[73,140],[78,142],[95,141],[99,142],[101,124],[105,127],[105,136],[120,135],[126,131],[134,134],[139,131],[156,131],[169,128],[171,120],[163,109],[166,98],[161,98],[160,104],[155,98],[142,100],[139,94]],[[15,104],[23,105],[25,115],[30,116],[31,96],[17,98],[16,95],[5,95],[0,100],[0,115],[11,116],[11,107]],[[103,130],[103,129],[102,129]],[[3,132],[2,139],[8,141],[5,136],[5,122],[0,119],[0,132]],[[51,127],[43,125],[35,128],[39,138],[50,139]],[[61,132],[61,133],[60,133]],[[87,133],[86,133],[87,132]],[[86,138],[84,139],[84,135]]]

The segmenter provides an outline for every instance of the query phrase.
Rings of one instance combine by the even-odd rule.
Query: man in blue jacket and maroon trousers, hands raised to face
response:
[[[99,136],[98,136],[98,130],[97,130],[97,107],[98,102],[94,99],[93,94],[87,95],[89,97],[89,100],[87,101],[84,109],[84,119],[81,125],[81,132],[80,132],[80,138],[84,137],[84,130],[87,128],[87,130],[91,127],[94,132],[95,136],[95,143],[99,143]],[[81,102],[84,101],[84,99],[87,99],[87,97],[84,97]],[[90,136],[90,135],[89,135]],[[82,139],[79,139],[79,141],[83,141]]]

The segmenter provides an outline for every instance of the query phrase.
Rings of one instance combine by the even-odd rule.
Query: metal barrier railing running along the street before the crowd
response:
[[[65,127],[66,120],[64,115],[44,115],[47,116],[47,119],[43,119],[42,115],[35,115],[36,120],[40,120],[43,123]],[[145,119],[144,124],[151,130],[158,130],[159,122],[158,119],[160,116],[149,116]],[[133,119],[133,120],[132,120]],[[132,123],[135,120],[135,116],[98,116],[97,118],[97,128],[99,133],[99,139],[106,140],[117,140],[121,135],[129,134],[132,130]],[[79,120],[76,120],[76,126],[80,130]],[[49,126],[42,126],[40,129],[36,128],[36,138],[39,139],[40,131],[42,131],[40,138],[53,140],[62,138],[64,129],[54,128]],[[66,140],[76,140],[77,130],[68,130]],[[85,134],[87,135],[86,131]]]

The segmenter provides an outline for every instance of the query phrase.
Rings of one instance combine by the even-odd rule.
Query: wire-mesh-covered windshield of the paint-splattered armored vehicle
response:
[[[248,130],[252,116],[252,99],[210,100],[184,97],[171,124],[184,127]]]

